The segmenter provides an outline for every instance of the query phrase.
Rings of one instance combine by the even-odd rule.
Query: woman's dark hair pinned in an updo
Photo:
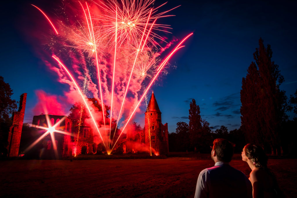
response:
[[[244,147],[245,156],[251,159],[255,167],[257,168],[267,168],[267,160],[265,152],[260,146],[253,144],[247,144]]]

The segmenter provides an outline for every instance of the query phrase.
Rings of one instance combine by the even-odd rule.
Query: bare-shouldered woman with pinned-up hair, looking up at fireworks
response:
[[[267,168],[268,158],[261,147],[247,144],[244,146],[241,156],[242,160],[246,161],[252,169],[249,180],[253,186],[253,198],[283,197],[275,176]]]

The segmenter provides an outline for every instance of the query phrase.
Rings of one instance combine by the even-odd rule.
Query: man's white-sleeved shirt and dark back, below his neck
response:
[[[252,198],[252,184],[243,172],[219,161],[198,176],[195,198]]]

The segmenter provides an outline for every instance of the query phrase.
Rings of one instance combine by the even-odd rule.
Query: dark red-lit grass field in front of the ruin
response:
[[[297,159],[270,159],[287,197],[297,197]],[[195,158],[0,161],[1,197],[194,197],[201,170]],[[249,175],[248,165],[231,165]]]

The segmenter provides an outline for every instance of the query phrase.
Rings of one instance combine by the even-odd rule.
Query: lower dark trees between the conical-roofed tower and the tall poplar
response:
[[[216,138],[225,138],[235,144],[235,152],[242,151],[246,141],[241,129],[228,131],[226,126],[213,130],[209,123],[200,116],[199,105],[192,99],[189,109],[189,124],[176,123],[176,132],[169,134],[169,151],[209,153]]]

